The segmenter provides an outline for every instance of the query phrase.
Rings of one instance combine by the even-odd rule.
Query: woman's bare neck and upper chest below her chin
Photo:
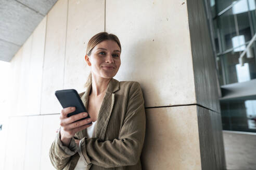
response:
[[[92,74],[92,91],[90,95],[99,96],[105,94],[110,80],[111,78],[102,78]]]

